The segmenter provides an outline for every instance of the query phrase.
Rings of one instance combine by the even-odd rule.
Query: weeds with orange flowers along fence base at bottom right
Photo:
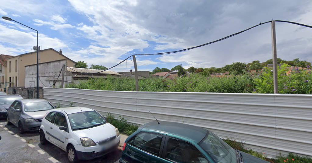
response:
[[[236,140],[232,140],[232,139],[223,139],[223,141],[225,141],[228,145],[230,145],[232,148],[237,149],[239,151],[248,153],[252,156],[256,156],[258,158],[261,158],[262,160],[266,160],[269,161],[271,163],[312,163],[312,158],[309,157],[301,157],[301,156],[297,156],[294,155],[292,153],[289,153],[288,156],[278,156],[276,159],[270,159],[267,158],[264,154],[265,153],[261,153],[261,152],[257,152],[257,151],[253,151],[252,149],[247,149],[244,147],[244,144],[241,142],[238,142]]]

